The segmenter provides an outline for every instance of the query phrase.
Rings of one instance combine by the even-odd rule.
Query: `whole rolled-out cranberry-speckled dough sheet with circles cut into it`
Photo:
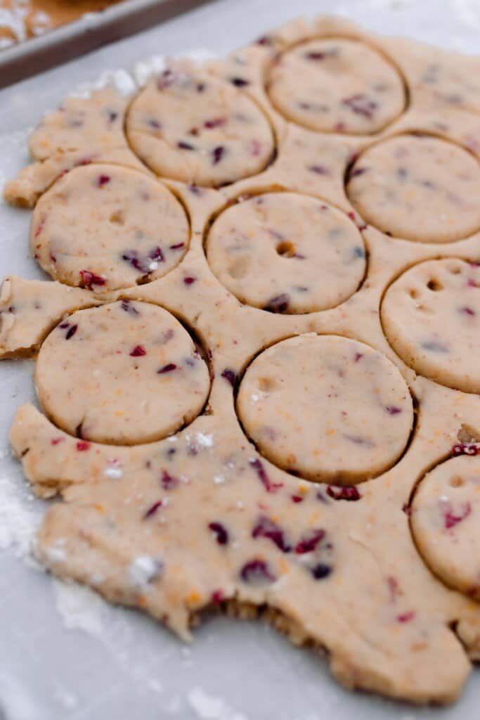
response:
[[[322,17],[40,122],[5,197],[37,204],[55,282],[4,280],[0,355],[38,353],[10,438],[56,496],[48,570],[185,640],[205,608],[260,615],[348,688],[458,698],[480,660],[479,76]]]

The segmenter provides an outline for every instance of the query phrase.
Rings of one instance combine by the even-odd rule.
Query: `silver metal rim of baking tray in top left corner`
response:
[[[0,88],[212,0],[124,0],[0,52]]]

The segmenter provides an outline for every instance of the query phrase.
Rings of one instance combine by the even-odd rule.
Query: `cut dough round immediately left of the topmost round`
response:
[[[127,134],[156,174],[214,187],[260,172],[275,147],[266,117],[245,94],[178,69],[166,70],[134,100]]]

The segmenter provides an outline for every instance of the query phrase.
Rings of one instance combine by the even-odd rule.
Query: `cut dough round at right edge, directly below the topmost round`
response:
[[[348,197],[363,220],[397,238],[449,243],[480,228],[480,166],[446,140],[399,135],[363,153]]]

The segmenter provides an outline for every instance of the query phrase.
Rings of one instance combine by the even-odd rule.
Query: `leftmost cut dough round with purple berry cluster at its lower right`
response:
[[[158,181],[91,165],[58,180],[37,202],[30,246],[55,280],[97,294],[171,271],[189,245],[189,222]]]

